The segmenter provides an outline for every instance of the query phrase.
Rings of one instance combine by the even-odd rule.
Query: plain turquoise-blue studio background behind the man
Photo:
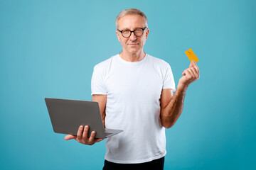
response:
[[[256,1],[0,1],[0,169],[102,169],[93,146],[53,132],[45,97],[91,100],[95,64],[122,51],[114,19],[139,8],[145,52],[176,86],[199,58],[183,113],[166,130],[165,169],[256,169]]]

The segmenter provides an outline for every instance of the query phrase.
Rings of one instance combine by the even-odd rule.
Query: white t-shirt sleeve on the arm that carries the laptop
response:
[[[91,81],[92,94],[107,94],[107,90],[105,88],[104,75],[105,75],[104,72],[102,72],[102,70],[96,65],[92,73],[92,81]]]

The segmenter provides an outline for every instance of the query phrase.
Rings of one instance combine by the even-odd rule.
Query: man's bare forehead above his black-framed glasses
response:
[[[119,30],[144,28],[144,19],[139,15],[127,15],[119,19]]]

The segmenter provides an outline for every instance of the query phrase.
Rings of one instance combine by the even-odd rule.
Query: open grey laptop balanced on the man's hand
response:
[[[99,103],[96,101],[78,101],[61,98],[45,98],[53,131],[77,135],[80,125],[88,125],[88,137],[92,131],[95,138],[105,139],[117,135],[123,130],[104,128]]]

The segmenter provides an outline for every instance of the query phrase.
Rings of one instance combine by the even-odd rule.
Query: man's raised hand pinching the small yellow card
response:
[[[183,77],[179,79],[178,84],[184,87],[188,87],[193,81],[199,79],[199,68],[196,65],[196,62],[192,61],[191,64],[189,64],[188,69],[185,69],[182,75]]]

